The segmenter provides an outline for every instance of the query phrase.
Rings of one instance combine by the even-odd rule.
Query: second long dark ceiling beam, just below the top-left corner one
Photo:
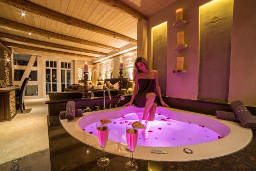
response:
[[[5,18],[2,18],[2,17],[0,17],[0,25],[7,26],[7,27],[17,29],[17,30],[22,30],[22,31],[25,31],[27,33],[30,32],[32,34],[38,34],[38,35],[45,36],[45,37],[52,37],[52,38],[57,38],[57,39],[65,40],[65,41],[72,41],[72,42],[75,42],[75,43],[78,43],[78,44],[96,46],[96,47],[99,47],[99,48],[110,49],[110,50],[117,51],[117,52],[119,51],[118,48],[98,44],[96,42],[83,40],[83,39],[76,38],[76,37],[66,36],[66,35],[59,34],[59,33],[54,33],[54,32],[47,31],[47,30],[38,29],[38,28],[35,28],[35,27],[24,25],[22,23],[13,22],[12,20],[5,19]]]

